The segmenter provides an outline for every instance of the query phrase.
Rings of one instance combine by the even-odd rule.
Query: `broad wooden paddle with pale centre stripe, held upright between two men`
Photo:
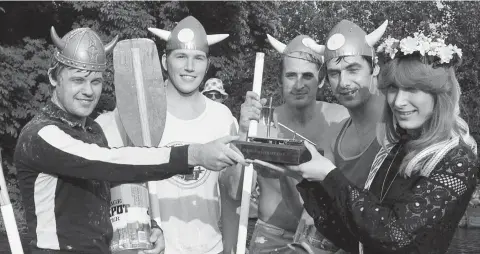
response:
[[[117,43],[113,50],[117,109],[135,146],[158,146],[165,128],[167,101],[157,46],[150,39]],[[152,218],[160,218],[156,190],[148,186]]]

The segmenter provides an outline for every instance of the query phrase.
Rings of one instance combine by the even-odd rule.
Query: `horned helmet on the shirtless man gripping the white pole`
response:
[[[267,34],[268,42],[279,53],[283,55],[291,55],[294,52],[303,52],[312,55],[314,58],[323,62],[323,54],[325,46],[316,43],[312,38],[307,35],[299,35],[295,37],[288,45],[275,39],[273,36]]]

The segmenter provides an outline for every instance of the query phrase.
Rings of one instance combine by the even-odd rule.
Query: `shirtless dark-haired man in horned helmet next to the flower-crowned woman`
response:
[[[326,82],[350,114],[332,135],[326,154],[333,155],[330,157],[332,162],[358,187],[364,186],[370,165],[380,149],[375,127],[382,116],[385,98],[377,90],[380,69],[374,45],[385,32],[387,24],[385,21],[374,32],[367,34],[353,22],[342,20],[329,32],[325,48]],[[306,207],[311,202],[305,200]],[[306,211],[314,215],[312,211]],[[313,224],[313,221],[310,223]],[[338,231],[332,228],[324,235],[329,238],[334,233]],[[324,240],[322,245],[331,251],[337,249],[328,240]]]

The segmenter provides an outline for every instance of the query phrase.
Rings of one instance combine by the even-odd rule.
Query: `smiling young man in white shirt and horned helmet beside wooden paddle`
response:
[[[209,66],[209,46],[224,40],[228,34],[207,35],[192,16],[178,22],[172,31],[157,28],[149,31],[167,42],[161,61],[168,78],[167,116],[157,145],[203,144],[236,133],[230,110],[199,91]],[[116,132],[106,135],[110,145],[123,145]],[[238,188],[240,176],[236,172],[239,174],[240,170],[219,173],[198,166],[191,173],[150,182],[161,214],[154,219],[163,230],[163,237],[157,242],[164,241],[166,254],[230,253],[236,242],[236,207],[240,202],[229,198],[227,193],[231,192],[229,188]]]

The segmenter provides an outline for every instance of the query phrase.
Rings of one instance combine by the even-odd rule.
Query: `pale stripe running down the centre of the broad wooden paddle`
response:
[[[140,113],[140,125],[142,126],[142,139],[144,146],[152,146],[150,136],[150,125],[148,123],[147,101],[145,97],[145,89],[143,85],[142,63],[140,61],[140,49],[132,48],[133,73],[135,75],[135,86],[137,88],[137,102]],[[160,218],[160,204],[156,197],[156,188],[150,186],[147,182],[147,188],[150,199],[150,210],[152,218]]]

